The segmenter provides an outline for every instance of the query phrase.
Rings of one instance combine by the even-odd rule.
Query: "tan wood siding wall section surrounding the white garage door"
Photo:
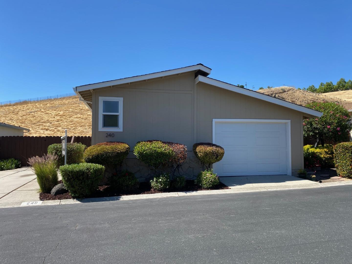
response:
[[[196,84],[196,142],[212,142],[213,119],[288,119],[291,120],[292,169],[303,168],[303,127],[301,112],[250,96]]]

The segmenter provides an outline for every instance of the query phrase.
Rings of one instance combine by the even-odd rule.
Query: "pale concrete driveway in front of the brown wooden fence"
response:
[[[38,189],[30,167],[0,171],[0,203],[39,200]]]

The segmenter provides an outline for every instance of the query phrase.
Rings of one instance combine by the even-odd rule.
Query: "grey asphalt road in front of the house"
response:
[[[5,263],[352,263],[352,186],[0,209]]]

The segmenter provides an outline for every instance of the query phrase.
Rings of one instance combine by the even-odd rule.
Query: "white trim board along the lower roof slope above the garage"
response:
[[[281,99],[278,99],[278,98],[275,98],[275,97],[272,97],[269,95],[265,95],[265,94],[262,94],[259,92],[249,90],[249,89],[241,88],[241,87],[235,86],[233,84],[222,82],[219,80],[215,80],[215,79],[212,79],[209,77],[199,75],[195,78],[195,83],[199,83],[199,82],[207,83],[207,84],[217,86],[217,87],[220,87],[223,89],[227,89],[227,90],[239,93],[239,94],[248,95],[248,96],[251,96],[251,97],[254,97],[254,98],[257,98],[260,100],[264,100],[264,101],[267,101],[270,103],[275,103],[276,105],[281,105],[281,106],[284,106],[284,107],[287,107],[287,108],[290,108],[290,109],[293,109],[293,110],[296,110],[296,111],[299,111],[299,112],[302,112],[302,113],[305,113],[308,115],[312,115],[313,117],[321,117],[323,115],[322,112],[310,109],[308,107],[296,105],[295,103],[281,100]]]

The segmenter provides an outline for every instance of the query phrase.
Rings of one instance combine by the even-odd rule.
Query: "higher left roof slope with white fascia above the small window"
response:
[[[93,94],[92,90],[93,89],[113,86],[113,85],[126,84],[126,83],[130,84],[132,82],[138,82],[138,81],[147,81],[155,78],[164,78],[165,76],[180,75],[182,73],[188,73],[190,71],[195,71],[195,73],[198,75],[208,76],[212,71],[212,69],[210,69],[209,67],[206,67],[201,63],[198,63],[187,67],[182,67],[182,68],[177,68],[172,70],[165,70],[165,71],[158,71],[156,73],[149,73],[149,74],[137,75],[137,76],[127,77],[127,78],[111,80],[111,81],[85,84],[85,85],[73,87],[73,90],[80,97],[80,101],[83,101],[84,104],[88,106],[90,110],[92,110],[92,94]]]

